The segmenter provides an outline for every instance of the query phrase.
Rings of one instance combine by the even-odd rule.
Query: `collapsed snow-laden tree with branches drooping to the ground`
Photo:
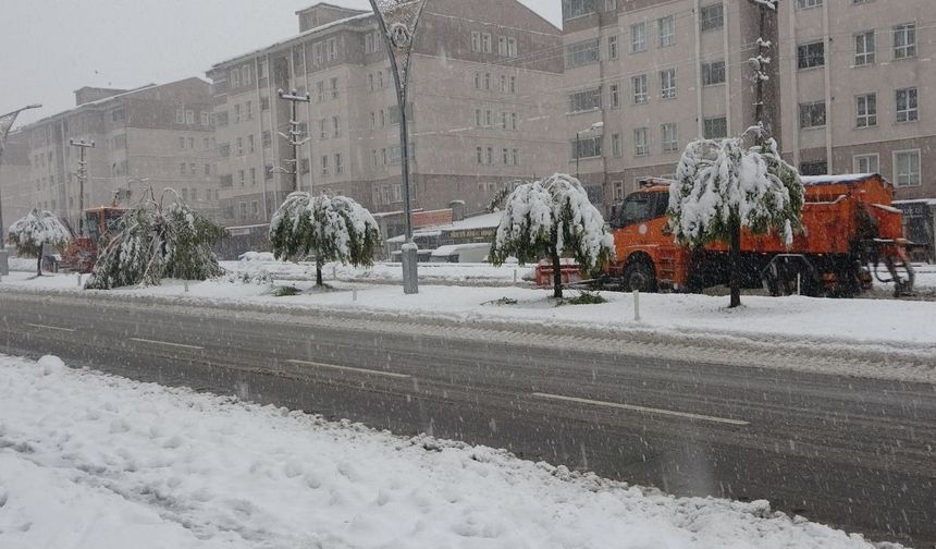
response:
[[[163,207],[163,199],[172,199]],[[109,290],[159,284],[164,278],[205,280],[224,271],[214,256],[222,227],[185,204],[168,188],[127,210],[114,236],[103,244],[85,288]]]

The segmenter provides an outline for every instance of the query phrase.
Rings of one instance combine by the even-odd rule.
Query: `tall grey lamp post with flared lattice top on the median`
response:
[[[409,83],[410,58],[416,38],[416,27],[426,0],[370,0],[377,14],[390,54],[391,72],[396,85],[396,102],[399,108],[399,155],[403,166],[403,199],[406,216],[406,244],[403,246],[403,292],[419,293],[416,245],[412,243],[412,204],[409,181],[409,132],[406,109]]]

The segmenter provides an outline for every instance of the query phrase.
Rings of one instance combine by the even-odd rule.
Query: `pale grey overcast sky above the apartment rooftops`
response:
[[[471,0],[465,0],[471,1]],[[553,24],[559,0],[521,0]],[[368,8],[368,0],[330,0]],[[0,113],[29,122],[70,109],[83,86],[132,88],[187,76],[298,33],[316,0],[2,0]],[[19,124],[17,124],[19,125]]]

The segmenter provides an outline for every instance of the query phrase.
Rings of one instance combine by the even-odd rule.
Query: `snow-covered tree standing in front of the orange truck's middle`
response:
[[[752,141],[749,145],[747,142]],[[736,138],[690,143],[669,188],[669,228],[677,242],[730,245],[731,307],[741,304],[741,229],[775,230],[787,245],[800,227],[803,185],[762,126]]]

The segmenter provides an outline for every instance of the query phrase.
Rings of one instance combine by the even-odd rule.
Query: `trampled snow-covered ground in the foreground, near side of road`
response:
[[[0,355],[0,547],[873,546],[764,501]]]

